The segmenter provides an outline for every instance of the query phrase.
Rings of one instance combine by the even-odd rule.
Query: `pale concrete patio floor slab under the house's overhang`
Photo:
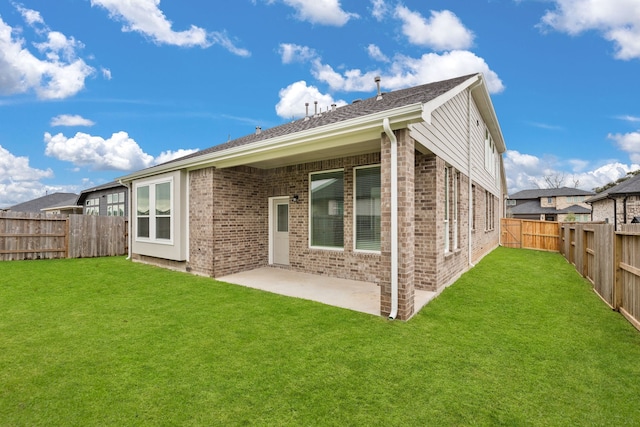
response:
[[[216,280],[380,316],[380,287],[375,283],[300,273],[277,267],[256,268],[217,277]],[[415,313],[436,295],[436,292],[416,289]]]

